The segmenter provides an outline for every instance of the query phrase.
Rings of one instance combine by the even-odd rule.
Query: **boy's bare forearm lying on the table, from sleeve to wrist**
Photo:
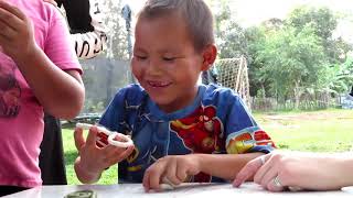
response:
[[[242,167],[263,153],[248,154],[194,154],[201,172],[227,180],[234,179]]]

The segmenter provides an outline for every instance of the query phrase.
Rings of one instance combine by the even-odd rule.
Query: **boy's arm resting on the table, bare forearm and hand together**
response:
[[[146,191],[160,189],[161,183],[180,185],[190,176],[204,173],[227,180],[234,179],[242,167],[261,153],[248,154],[188,154],[168,155],[159,158],[143,175]]]

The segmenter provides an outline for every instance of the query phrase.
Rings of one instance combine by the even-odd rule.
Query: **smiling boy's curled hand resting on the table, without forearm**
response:
[[[180,185],[189,176],[200,173],[199,158],[195,155],[170,155],[159,158],[145,173],[143,187],[160,190],[160,184],[169,180],[172,185]]]

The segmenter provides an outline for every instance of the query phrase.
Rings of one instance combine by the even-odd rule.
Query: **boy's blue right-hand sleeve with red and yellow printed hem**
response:
[[[226,124],[226,151],[229,154],[269,153],[275,144],[255,122],[240,97],[232,96],[231,113]],[[228,100],[229,101],[229,100]]]

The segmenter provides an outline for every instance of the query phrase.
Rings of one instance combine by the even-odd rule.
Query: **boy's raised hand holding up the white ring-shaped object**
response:
[[[79,153],[78,166],[85,172],[85,175],[100,175],[104,169],[124,161],[133,151],[133,146],[124,148],[108,144],[105,147],[98,147],[96,145],[97,133],[98,128],[92,127],[85,141],[83,130],[75,129],[75,145]],[[79,177],[78,174],[77,176]]]

